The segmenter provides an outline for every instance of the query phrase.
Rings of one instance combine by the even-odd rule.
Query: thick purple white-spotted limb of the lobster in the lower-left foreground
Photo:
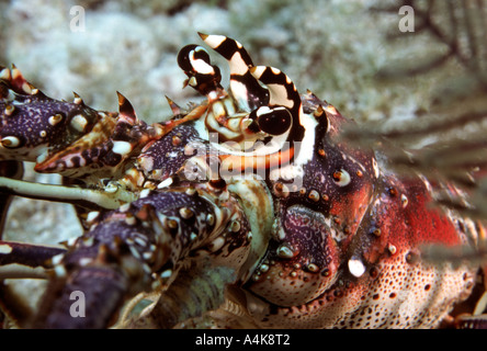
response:
[[[110,326],[127,298],[154,284],[166,288],[192,257],[227,257],[241,267],[250,248],[244,213],[234,197],[203,188],[152,192],[90,214],[91,230],[54,260],[55,275],[31,327]],[[73,310],[77,296],[82,313]]]

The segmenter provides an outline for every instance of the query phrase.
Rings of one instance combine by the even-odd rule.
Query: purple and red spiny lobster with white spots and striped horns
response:
[[[421,246],[484,236],[430,206],[434,189],[455,189],[392,172],[341,138],[352,122],[331,104],[237,41],[200,35],[228,61],[229,90],[188,45],[178,64],[205,100],[185,111],[168,99],[172,118],[152,125],[120,93],[117,113],[95,111],[0,69],[3,214],[12,195],[68,202],[86,229],[65,247],[0,241],[2,279],[20,265],[49,281],[23,319],[3,286],[3,313],[31,328],[438,327],[478,268],[426,261]],[[65,183],[19,180],[22,161]]]

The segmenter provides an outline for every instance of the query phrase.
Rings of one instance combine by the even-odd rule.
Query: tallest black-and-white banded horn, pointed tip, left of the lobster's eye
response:
[[[253,63],[245,47],[239,42],[224,35],[199,34],[211,48],[228,61],[230,91],[239,109],[250,112],[267,105],[269,92],[250,73]]]

